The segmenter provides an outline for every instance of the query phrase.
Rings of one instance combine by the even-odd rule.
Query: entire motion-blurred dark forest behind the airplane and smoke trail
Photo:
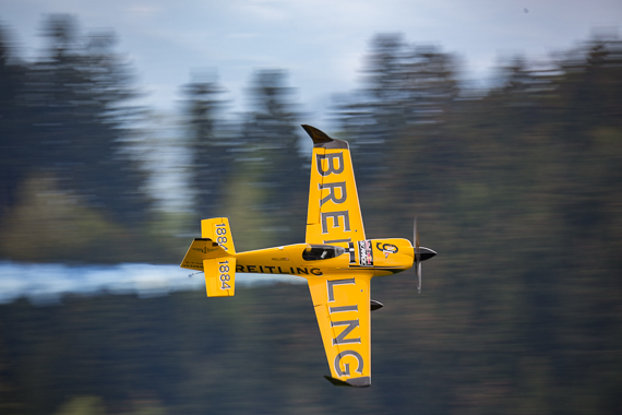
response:
[[[218,215],[239,249],[303,240],[310,143],[286,70],[254,72],[240,114],[214,76],[180,85],[169,138],[112,34],[43,27],[34,60],[0,31],[1,259],[178,263]],[[65,296],[0,306],[0,413],[622,413],[622,43],[516,57],[486,91],[400,35],[361,64],[338,128],[315,127],[350,142],[368,237],[411,239],[417,214],[439,252],[420,296],[412,274],[374,280],[371,388],[322,379],[303,285]]]

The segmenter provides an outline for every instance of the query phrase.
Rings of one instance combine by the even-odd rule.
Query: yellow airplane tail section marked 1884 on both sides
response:
[[[188,249],[181,268],[203,271],[207,297],[229,297],[236,292],[236,248],[229,220],[201,221],[202,238]]]

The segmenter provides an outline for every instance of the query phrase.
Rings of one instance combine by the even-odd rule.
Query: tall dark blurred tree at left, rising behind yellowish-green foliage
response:
[[[142,223],[145,177],[123,144],[134,115],[124,102],[134,94],[127,66],[111,50],[113,37],[84,39],[67,15],[49,16],[44,34],[47,56],[28,72],[24,93],[38,144],[31,165],[125,225]]]

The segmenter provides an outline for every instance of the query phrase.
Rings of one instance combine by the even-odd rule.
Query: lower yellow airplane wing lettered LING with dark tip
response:
[[[334,384],[371,384],[370,280],[358,273],[308,280]]]

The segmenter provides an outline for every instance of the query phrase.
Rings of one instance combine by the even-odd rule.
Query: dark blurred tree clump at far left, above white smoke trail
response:
[[[124,144],[136,109],[109,33],[44,24],[34,62],[0,38],[0,253],[14,260],[130,261],[151,198]],[[108,248],[106,248],[108,247]]]

